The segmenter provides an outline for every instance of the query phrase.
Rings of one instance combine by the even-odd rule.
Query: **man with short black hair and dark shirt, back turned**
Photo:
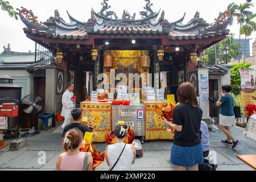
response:
[[[68,130],[77,128],[79,129],[83,134],[86,132],[92,132],[87,125],[82,124],[82,109],[76,108],[71,111],[71,115],[73,117],[73,123],[68,124],[65,126],[63,130],[62,137],[64,137],[65,133],[67,133]]]

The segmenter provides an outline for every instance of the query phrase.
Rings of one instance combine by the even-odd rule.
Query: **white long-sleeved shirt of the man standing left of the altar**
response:
[[[64,118],[72,118],[71,111],[75,108],[71,97],[74,95],[73,92],[69,92],[68,89],[64,92],[62,96],[62,110],[61,116]]]

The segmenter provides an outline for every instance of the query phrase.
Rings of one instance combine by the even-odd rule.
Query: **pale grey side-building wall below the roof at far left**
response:
[[[31,76],[26,70],[15,70],[15,69],[6,69],[0,71],[0,76],[9,75],[10,77],[15,78],[13,81],[15,84],[22,86],[22,98],[31,94]],[[21,98],[21,99],[22,99]]]

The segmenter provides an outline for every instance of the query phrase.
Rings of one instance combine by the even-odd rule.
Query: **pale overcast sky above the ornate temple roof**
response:
[[[90,18],[90,10],[93,8],[96,12],[101,10],[102,0],[7,0],[16,9],[20,6],[26,7],[28,10],[32,10],[35,16],[38,16],[38,20],[45,22],[49,16],[54,15],[54,10],[59,10],[61,17],[69,22],[66,11],[69,11],[74,18],[81,22],[86,22]],[[159,11],[162,9],[165,11],[165,18],[169,22],[174,22],[180,19],[184,13],[185,19],[183,23],[187,23],[196,11],[200,12],[201,18],[204,18],[208,23],[213,23],[214,18],[217,18],[218,14],[226,10],[229,3],[243,3],[246,0],[151,0],[154,4],[152,9]],[[253,0],[252,2],[256,2]],[[136,13],[136,18],[140,18],[139,11],[143,10],[145,2],[143,0],[109,0],[109,5],[112,6],[113,11],[117,13],[119,17],[122,16],[123,10],[128,10],[130,14]],[[251,9],[256,13],[256,7]],[[0,52],[3,50],[3,46],[11,44],[11,50],[19,52],[28,52],[31,50],[34,52],[35,43],[32,40],[26,38],[23,32],[24,24],[22,21],[10,18],[5,11],[0,9]],[[229,27],[230,31],[236,34],[236,38],[239,37],[239,26],[236,21],[233,26]],[[256,33],[250,37],[250,45],[255,40]],[[244,38],[244,36],[242,36]]]

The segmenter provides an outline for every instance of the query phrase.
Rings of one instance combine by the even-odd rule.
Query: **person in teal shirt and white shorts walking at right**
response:
[[[220,107],[219,125],[220,130],[226,135],[226,140],[221,140],[232,149],[236,148],[240,141],[233,137],[230,127],[233,125],[234,116],[234,98],[230,95],[232,87],[230,85],[222,86],[222,94],[219,94],[220,99],[217,101],[216,106]]]

